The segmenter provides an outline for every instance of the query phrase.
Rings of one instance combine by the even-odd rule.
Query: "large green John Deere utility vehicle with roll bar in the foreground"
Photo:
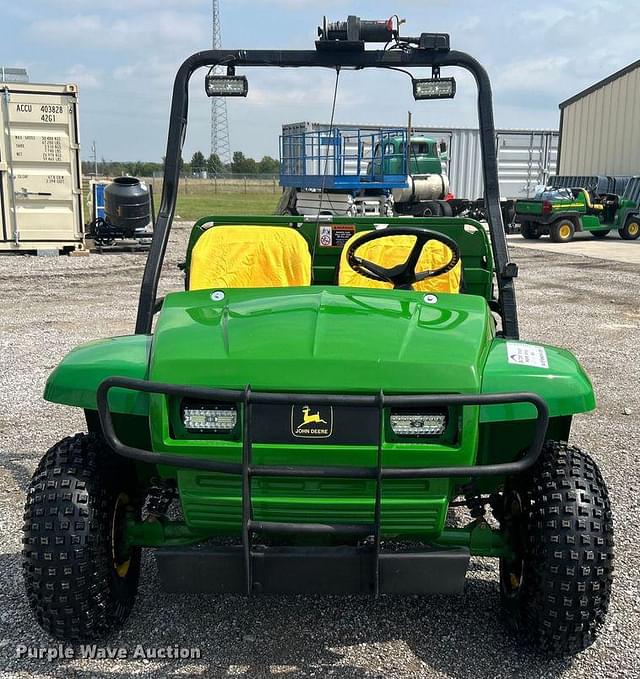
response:
[[[414,96],[438,99],[455,92],[449,66],[478,85],[488,232],[466,217],[205,216],[185,290],[157,297],[194,71],[231,96],[250,67],[430,68]],[[24,579],[44,630],[122,625],[153,548],[165,588],[209,594],[459,593],[470,557],[491,557],[523,637],[556,655],[593,642],[612,517],[567,441],[595,400],[571,353],[518,338],[494,144],[487,73],[443,33],[349,17],[313,50],[184,62],[135,332],[77,347],[45,389],[87,432],[53,446],[28,491]]]

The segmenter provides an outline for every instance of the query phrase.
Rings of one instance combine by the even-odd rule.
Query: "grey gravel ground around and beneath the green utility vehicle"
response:
[[[166,287],[180,285],[186,237],[175,229]],[[609,483],[616,579],[600,640],[572,661],[518,646],[499,618],[497,569],[472,562],[461,597],[183,597],[161,593],[146,557],[126,627],[108,639],[121,660],[20,659],[16,646],[51,646],[26,604],[20,576],[24,492],[38,458],[83,428],[79,412],[41,399],[48,373],[76,344],[131,331],[139,255],[0,258],[0,673],[15,677],[640,676],[640,272],[629,264],[514,248],[523,338],[573,350],[591,375],[596,413],[575,423]],[[200,659],[134,659],[136,646],[199,648]]]

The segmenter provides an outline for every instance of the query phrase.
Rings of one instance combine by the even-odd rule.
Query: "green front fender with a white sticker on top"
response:
[[[540,365],[545,362],[543,357],[547,367]],[[591,381],[576,357],[566,349],[532,342],[493,341],[484,367],[482,393],[500,391],[538,394],[547,402],[550,417],[584,413],[596,407]],[[528,403],[480,409],[481,422],[528,420],[535,416],[535,407]]]

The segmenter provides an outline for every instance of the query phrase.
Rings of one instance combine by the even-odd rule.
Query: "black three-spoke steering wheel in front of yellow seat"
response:
[[[414,236],[416,239],[409,256],[402,264],[386,268],[356,255],[356,250],[361,245],[380,238],[388,238],[389,236]],[[447,264],[438,267],[437,269],[416,271],[422,248],[430,240],[437,240],[443,245],[446,245],[451,250],[451,259]],[[378,231],[370,231],[354,240],[347,250],[347,263],[356,273],[359,273],[366,278],[371,278],[374,281],[392,283],[396,290],[413,290],[412,286],[414,283],[423,281],[425,278],[434,278],[435,276],[447,273],[447,271],[451,271],[459,261],[460,248],[452,238],[445,236],[443,233],[430,231],[429,229],[423,229],[417,226],[402,226],[398,228],[393,227],[380,229]]]

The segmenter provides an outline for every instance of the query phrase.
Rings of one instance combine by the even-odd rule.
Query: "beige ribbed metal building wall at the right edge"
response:
[[[640,60],[560,104],[559,174],[640,174]]]

